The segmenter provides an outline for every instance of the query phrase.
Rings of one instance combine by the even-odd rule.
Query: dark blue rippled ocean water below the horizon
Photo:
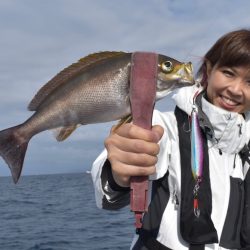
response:
[[[96,207],[90,174],[0,177],[1,250],[127,250],[129,207]]]

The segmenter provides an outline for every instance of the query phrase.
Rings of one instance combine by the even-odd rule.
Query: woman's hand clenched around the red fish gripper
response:
[[[160,147],[157,144],[164,130],[156,125],[152,130],[140,128],[131,123],[115,126],[105,140],[108,159],[116,183],[123,187],[130,185],[131,176],[154,174]]]

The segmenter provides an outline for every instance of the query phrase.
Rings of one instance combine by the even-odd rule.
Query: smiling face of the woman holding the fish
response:
[[[217,107],[237,113],[250,111],[250,68],[207,64],[207,97]]]

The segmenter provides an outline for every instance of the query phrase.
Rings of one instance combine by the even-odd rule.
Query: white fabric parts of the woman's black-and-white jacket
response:
[[[189,115],[192,111],[193,96],[197,90],[200,89],[196,86],[185,87],[181,88],[173,96],[176,105]],[[230,177],[244,180],[249,168],[248,164],[245,164],[243,168],[238,153],[250,139],[250,114],[245,114],[244,119],[240,114],[213,106],[205,98],[202,98],[202,109],[213,125],[216,138],[214,141],[208,140],[208,154],[212,190],[211,219],[220,240],[229,204]],[[153,124],[161,125],[164,128],[164,135],[159,142],[160,153],[158,155],[156,174],[150,176],[149,179],[150,181],[159,179],[169,171],[168,183],[170,191],[170,199],[162,216],[157,241],[170,249],[187,250],[188,244],[180,234],[179,209],[175,204],[176,199],[180,200],[181,194],[181,166],[176,117],[173,112],[162,113],[155,110]],[[220,151],[222,151],[222,154]],[[102,166],[106,161],[106,157],[107,152],[104,150],[96,159],[92,168],[96,202],[100,208],[103,208],[104,197],[111,204],[116,200],[119,203],[120,198],[116,199],[116,197],[121,196],[119,192],[113,191],[109,187],[108,182],[104,183],[101,179]],[[229,248],[222,248],[219,244],[210,244],[206,245],[205,249]]]

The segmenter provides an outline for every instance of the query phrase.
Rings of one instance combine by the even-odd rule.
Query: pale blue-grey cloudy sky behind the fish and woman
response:
[[[93,52],[152,51],[192,61],[197,70],[221,35],[250,28],[249,9],[248,0],[1,0],[0,130],[29,118],[39,88]],[[171,98],[156,107],[173,108]],[[112,124],[81,126],[61,143],[51,131],[34,136],[22,174],[89,170]]]

